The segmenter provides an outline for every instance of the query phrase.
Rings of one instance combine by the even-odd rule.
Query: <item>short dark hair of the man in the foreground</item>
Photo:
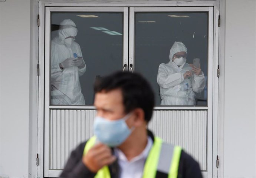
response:
[[[154,92],[148,81],[138,73],[118,71],[98,78],[94,84],[94,92],[108,92],[121,89],[125,113],[141,108],[148,122],[154,107]]]

